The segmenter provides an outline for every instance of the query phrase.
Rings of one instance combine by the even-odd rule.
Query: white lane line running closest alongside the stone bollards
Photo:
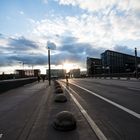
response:
[[[63,85],[63,84],[62,84]],[[76,98],[71,94],[71,92],[63,85],[63,87],[67,90],[67,92],[70,94],[71,98],[74,100],[75,104],[78,106],[79,110],[85,117],[85,119],[88,121],[89,125],[91,126],[92,130],[95,132],[99,140],[107,140],[103,132],[99,129],[99,127],[95,124],[95,122],[91,119],[91,117],[88,115],[88,113],[84,110],[84,108],[80,105],[80,103],[76,100]],[[72,92],[75,92],[73,89],[69,87],[69,89]],[[75,92],[76,93],[76,92]]]

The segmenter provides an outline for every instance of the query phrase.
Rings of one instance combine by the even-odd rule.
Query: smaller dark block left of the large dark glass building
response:
[[[102,73],[102,61],[99,58],[87,57],[87,75],[94,76]]]

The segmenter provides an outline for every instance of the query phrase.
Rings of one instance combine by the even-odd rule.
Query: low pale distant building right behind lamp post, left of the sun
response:
[[[47,70],[47,75],[49,70]],[[51,78],[65,78],[66,70],[64,69],[51,69]]]

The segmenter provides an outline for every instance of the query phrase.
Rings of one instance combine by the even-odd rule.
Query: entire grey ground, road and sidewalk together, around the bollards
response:
[[[54,102],[54,85],[35,82],[0,94],[0,140],[139,140],[140,82],[70,79],[68,101]],[[71,111],[77,129],[58,132],[53,120]]]

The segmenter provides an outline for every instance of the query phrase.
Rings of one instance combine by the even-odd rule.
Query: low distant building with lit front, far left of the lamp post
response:
[[[33,76],[33,77],[37,77],[38,75],[40,75],[40,70],[39,69],[27,69],[27,70],[15,70],[16,75],[18,75],[19,77],[29,77],[29,76]]]

